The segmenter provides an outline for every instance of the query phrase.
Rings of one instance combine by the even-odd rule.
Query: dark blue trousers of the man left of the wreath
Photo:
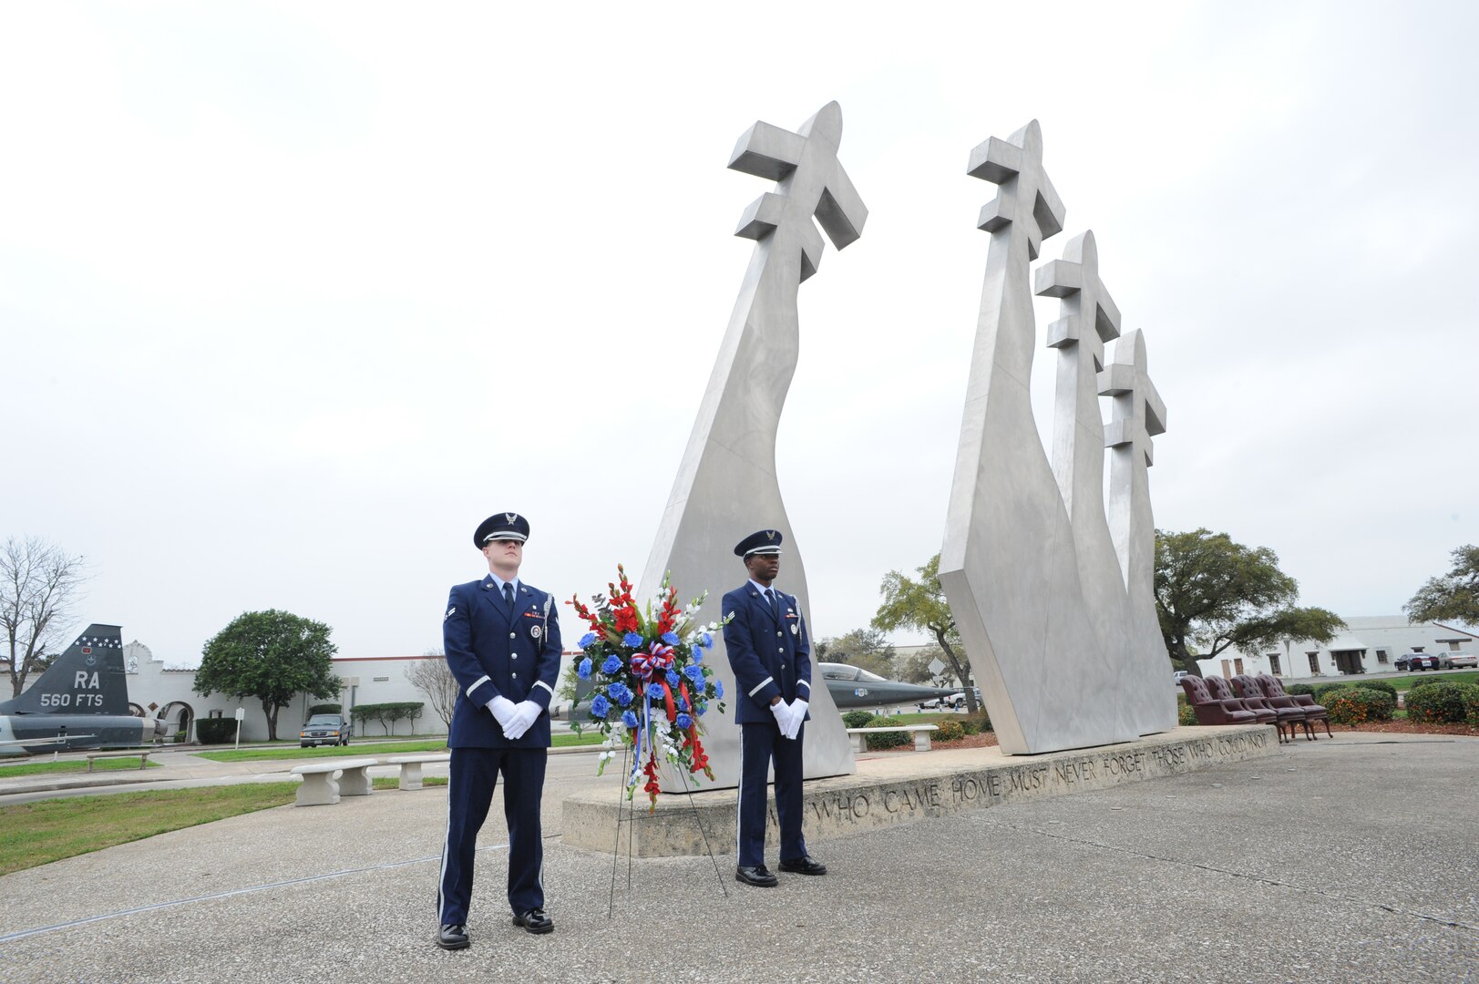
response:
[[[473,852],[488,818],[493,790],[503,772],[503,815],[509,821],[509,906],[513,911],[544,907],[544,839],[540,799],[547,749],[453,749],[447,783],[447,842],[436,900],[441,925],[466,925],[472,901]]]

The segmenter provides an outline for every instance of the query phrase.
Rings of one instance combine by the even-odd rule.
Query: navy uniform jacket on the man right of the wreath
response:
[[[812,642],[796,595],[775,592],[781,607],[776,623],[771,602],[745,582],[725,595],[725,653],[735,673],[735,724],[769,724],[771,698],[812,700]],[[810,713],[806,715],[808,721]]]

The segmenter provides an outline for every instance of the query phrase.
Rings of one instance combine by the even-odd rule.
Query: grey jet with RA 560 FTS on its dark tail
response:
[[[87,626],[30,690],[0,703],[0,755],[143,744],[164,731],[129,713],[120,626]]]

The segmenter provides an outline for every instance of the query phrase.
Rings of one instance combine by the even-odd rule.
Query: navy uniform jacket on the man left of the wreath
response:
[[[544,616],[549,604],[549,617]],[[453,587],[442,616],[442,648],[457,678],[450,749],[547,749],[549,706],[559,676],[559,617],[555,599],[519,583],[510,619],[493,576]],[[529,729],[510,741],[488,709],[494,697],[532,700],[544,707]]]

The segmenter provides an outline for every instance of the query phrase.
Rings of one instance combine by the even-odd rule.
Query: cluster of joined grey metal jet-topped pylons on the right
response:
[[[1075,238],[1037,277],[1038,293],[1062,299],[1062,317],[1049,328],[1059,351],[1049,463],[1028,389],[1037,336],[1029,262],[1062,229],[1063,204],[1043,170],[1037,121],[978,146],[967,173],[1000,191],[978,222],[991,244],[939,579],[986,710],[1007,753],[1109,744],[1174,727],[1165,647],[1157,629],[1155,648],[1146,648],[1143,608],[1131,604],[1151,598],[1151,583],[1126,582],[1126,571],[1148,570],[1134,552],[1149,518],[1148,499],[1143,510],[1136,506],[1148,494],[1143,468],[1139,485],[1133,469],[1126,474],[1127,505],[1111,505],[1126,516],[1127,553],[1117,552],[1105,515],[1099,370],[1120,314],[1099,280],[1093,235]],[[1133,423],[1112,428],[1111,439],[1131,431]],[[1154,562],[1154,527],[1151,550]]]

